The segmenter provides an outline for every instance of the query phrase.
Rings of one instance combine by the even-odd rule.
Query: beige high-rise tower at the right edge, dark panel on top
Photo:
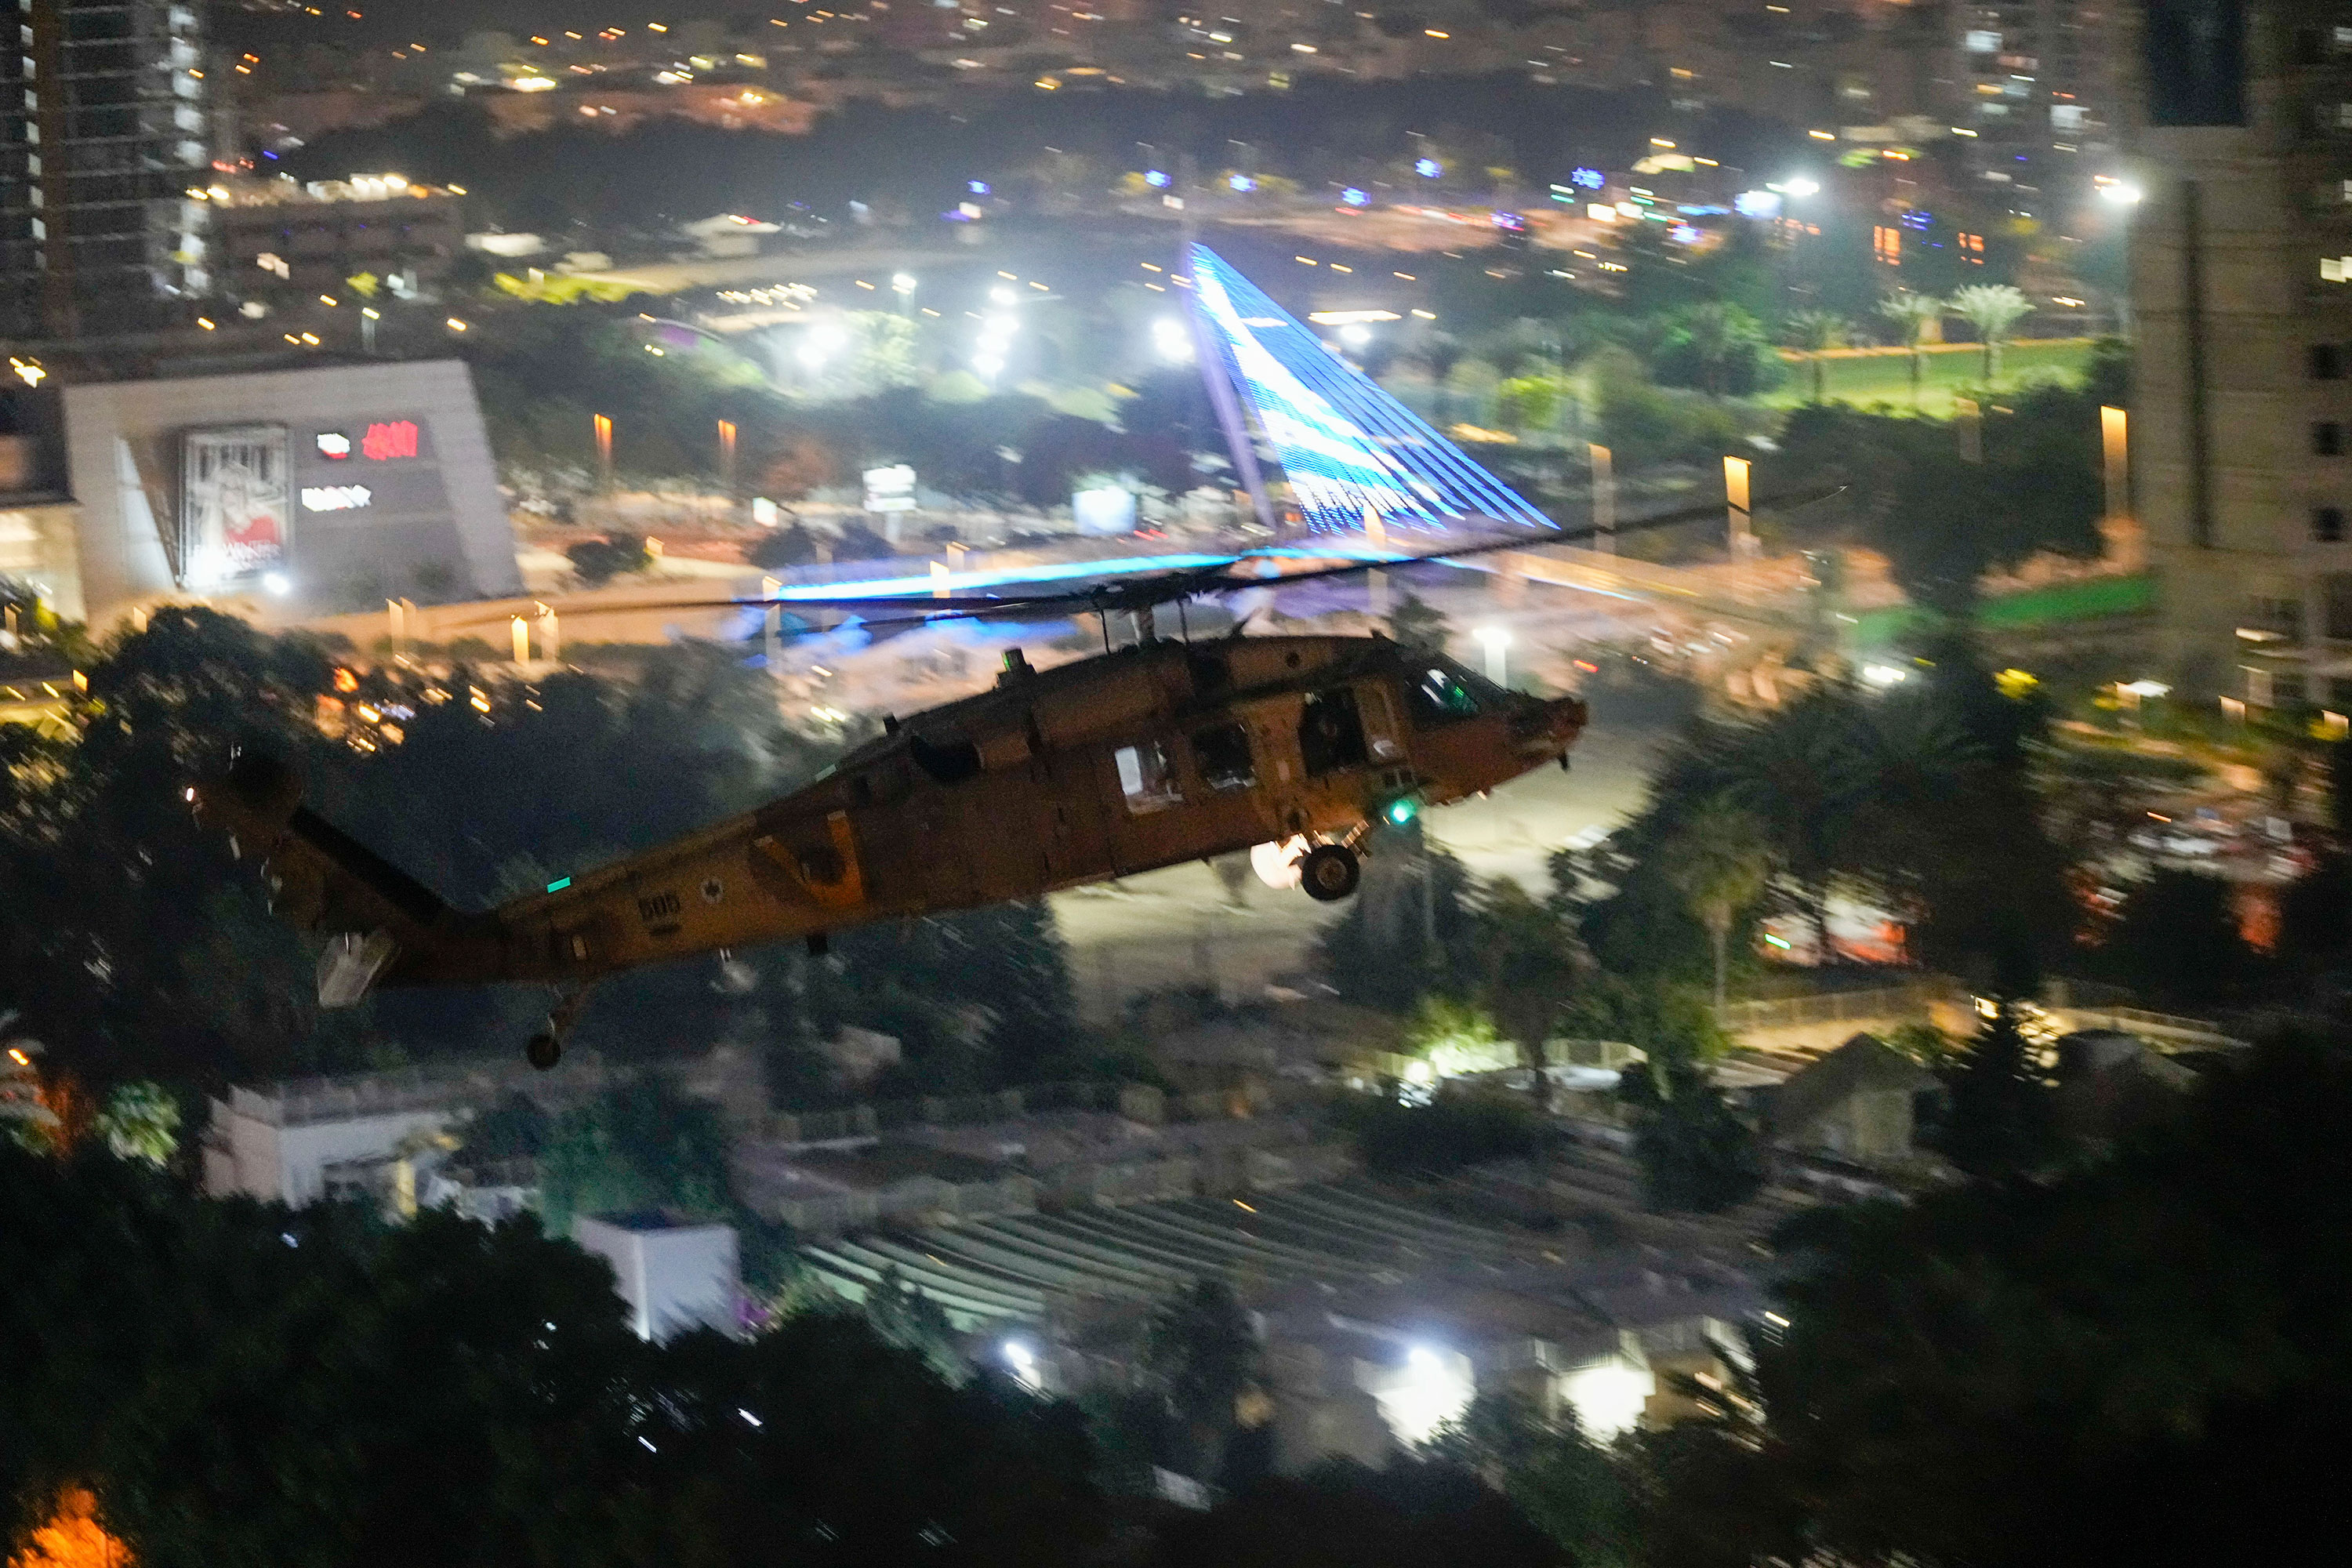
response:
[[[2352,12],[2145,26],[2131,444],[2169,675],[2352,703]]]

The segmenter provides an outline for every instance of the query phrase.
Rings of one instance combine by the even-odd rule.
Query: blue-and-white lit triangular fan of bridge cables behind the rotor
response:
[[[1291,482],[1310,529],[1444,529],[1456,522],[1557,527],[1515,489],[1472,463],[1402,402],[1383,393],[1258,284],[1211,252],[1188,247],[1192,308],[1211,376],[1237,388]],[[1221,400],[1223,402],[1223,400]],[[1244,433],[1228,428],[1240,442]],[[1256,468],[1247,461],[1244,475]],[[1256,489],[1256,487],[1251,487]]]

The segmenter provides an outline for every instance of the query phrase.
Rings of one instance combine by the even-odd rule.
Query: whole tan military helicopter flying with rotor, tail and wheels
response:
[[[1618,531],[1712,517],[1686,508]],[[1268,552],[1040,595],[793,599],[793,609],[943,618],[1138,616],[1143,637],[1054,670],[1011,649],[995,686],[908,719],[809,785],[684,839],[463,912],[301,804],[296,773],[245,752],[188,788],[198,818],[256,858],[273,907],[332,933],[320,1006],[376,985],[543,983],[524,1056],[553,1067],[586,987],[637,964],[804,940],[889,917],[1037,898],[1235,851],[1348,898],[1378,820],[1406,823],[1548,762],[1585,729],[1576,698],[1496,686],[1388,637],[1150,635],[1162,604],[1592,534],[1486,538],[1414,557],[1282,571]],[[1279,576],[1270,576],[1279,574]],[[731,599],[771,607],[774,599]],[[710,602],[699,607],[708,609]]]

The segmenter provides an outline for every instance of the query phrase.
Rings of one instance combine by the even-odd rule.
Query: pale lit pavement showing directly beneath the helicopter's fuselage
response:
[[[1423,818],[1428,835],[1479,877],[1545,889],[1545,856],[1569,837],[1623,823],[1639,804],[1665,731],[1588,731],[1573,771],[1536,769],[1486,799]],[[1305,893],[1251,882],[1242,907],[1207,865],[1171,865],[1054,898],[1070,943],[1080,1009],[1110,1023],[1127,999],[1171,985],[1214,983],[1228,999],[1312,971],[1315,938],[1338,917]]]

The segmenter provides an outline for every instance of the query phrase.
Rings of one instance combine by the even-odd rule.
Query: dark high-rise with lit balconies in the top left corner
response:
[[[0,28],[7,26],[0,0]],[[207,292],[198,0],[14,0],[0,49],[0,336],[92,339]]]

